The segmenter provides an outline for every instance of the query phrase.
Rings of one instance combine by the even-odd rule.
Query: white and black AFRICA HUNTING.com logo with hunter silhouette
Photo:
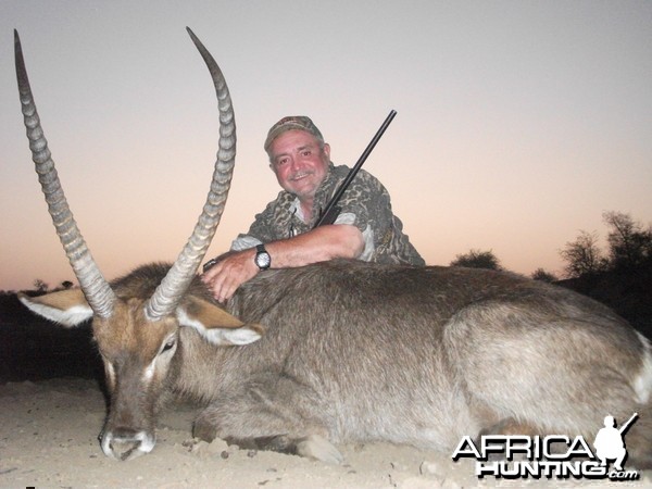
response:
[[[614,417],[605,416],[604,428],[598,431],[593,449],[582,436],[484,435],[475,441],[464,436],[452,459],[455,462],[475,459],[478,478],[636,480],[639,472],[625,471],[623,464],[627,459],[624,436],[637,417],[638,413],[634,413],[617,428]]]

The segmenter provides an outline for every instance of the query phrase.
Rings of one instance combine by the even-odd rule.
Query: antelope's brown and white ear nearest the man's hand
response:
[[[197,297],[187,297],[176,311],[180,326],[195,328],[213,344],[249,344],[261,339],[264,328],[244,324],[222,308]]]

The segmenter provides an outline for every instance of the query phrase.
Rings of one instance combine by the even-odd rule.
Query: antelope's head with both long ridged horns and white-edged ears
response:
[[[93,337],[111,390],[101,447],[106,455],[118,460],[134,459],[154,447],[155,427],[150,411],[155,400],[149,398],[161,392],[177,350],[179,327],[192,327],[215,344],[247,344],[260,339],[262,333],[259,326],[242,324],[209,298],[186,293],[220,224],[236,155],[234,110],[224,75],[195,34],[190,29],[188,34],[209,67],[217,93],[220,149],[211,188],[192,235],[174,264],[165,268],[162,280],[151,286],[151,277],[138,277],[136,281],[140,284],[112,287],[91,256],[68,208],[14,30],[18,92],[33,160],[57,234],[79,281],[79,289],[39,298],[23,294],[21,300],[34,312],[66,326],[92,318]]]

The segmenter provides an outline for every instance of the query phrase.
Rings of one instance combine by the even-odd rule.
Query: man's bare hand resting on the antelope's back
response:
[[[254,256],[255,249],[228,252],[201,276],[216,301],[226,302],[238,287],[259,273]]]

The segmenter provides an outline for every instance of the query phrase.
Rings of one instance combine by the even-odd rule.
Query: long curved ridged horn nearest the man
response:
[[[170,268],[170,272],[146,305],[146,315],[150,321],[158,321],[171,314],[176,309],[181,296],[186,292],[190,281],[195,277],[197,268],[209,249],[213,235],[220,224],[230,188],[236,159],[236,123],[224,75],[211,53],[203,47],[192,30],[188,27],[186,29],[211,72],[215,91],[217,92],[220,150],[217,151],[217,161],[215,162],[211,190],[203,211],[197,221],[192,236],[190,236],[176,262],[172,265],[172,268]]]

